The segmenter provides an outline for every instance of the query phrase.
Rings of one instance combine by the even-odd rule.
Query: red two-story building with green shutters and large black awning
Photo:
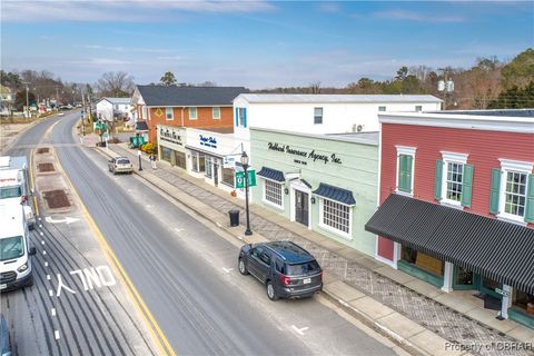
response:
[[[376,258],[534,327],[534,111],[382,113]]]

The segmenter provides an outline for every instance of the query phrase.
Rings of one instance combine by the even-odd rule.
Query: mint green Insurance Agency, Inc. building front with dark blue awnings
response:
[[[369,256],[377,207],[378,132],[309,135],[250,128],[253,201]]]

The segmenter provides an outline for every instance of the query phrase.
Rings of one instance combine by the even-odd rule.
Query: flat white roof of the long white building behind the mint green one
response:
[[[239,98],[258,103],[313,103],[313,102],[442,102],[442,99],[429,95],[327,95],[327,93],[244,93]]]

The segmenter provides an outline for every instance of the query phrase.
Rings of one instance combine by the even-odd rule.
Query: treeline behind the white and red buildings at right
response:
[[[439,91],[439,80],[452,80],[454,90]],[[308,87],[280,87],[257,92],[434,95],[445,99],[446,109],[496,109],[533,108],[533,87],[534,50],[527,49],[510,62],[496,57],[479,58],[469,69],[400,67],[390,80],[360,78],[345,88],[323,88],[320,82],[313,82]]]

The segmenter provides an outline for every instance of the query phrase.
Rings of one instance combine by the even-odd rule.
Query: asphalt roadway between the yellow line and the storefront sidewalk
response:
[[[89,214],[177,354],[393,355],[317,298],[269,301],[236,268],[238,248],[135,176],[72,147],[66,116],[51,141]]]

